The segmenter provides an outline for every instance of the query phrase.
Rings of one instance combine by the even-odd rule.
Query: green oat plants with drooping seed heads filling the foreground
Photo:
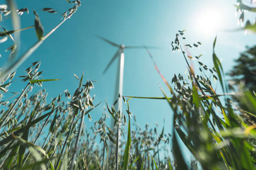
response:
[[[61,14],[64,20],[56,28],[70,18],[80,6],[79,1],[67,0],[67,2],[77,6]],[[18,12],[26,11],[27,9],[24,8]],[[43,11],[58,12],[52,8],[43,8]],[[244,114],[256,116],[256,95],[245,88],[239,92],[228,93],[230,90],[225,81],[223,67],[214,50],[215,44],[218,43],[217,37],[213,42],[213,65],[208,67],[200,61],[202,55],[188,56],[183,50],[183,48],[198,47],[202,45],[201,42],[186,44],[185,30],[178,31],[172,47],[174,51],[181,52],[180,55],[187,63],[188,73],[175,74],[172,85],[161,74],[154,57],[145,47],[169,91],[165,92],[159,85],[164,97],[119,95],[113,105],[106,102],[107,109],[90,129],[84,128],[84,118],[87,116],[91,120],[90,111],[99,107],[100,103],[95,105],[93,102],[91,90],[94,86],[90,80],[83,81],[84,75],[80,78],[74,75],[78,80],[74,95],[70,95],[70,92],[65,90],[47,103],[46,91],[41,90],[32,95],[28,92],[35,85],[54,83],[49,81],[58,79],[39,79],[43,73],[39,71],[40,62],[33,62],[31,67],[26,69],[26,75],[20,76],[26,82],[24,89],[20,90],[19,94],[15,94],[18,95],[16,98],[13,96],[4,99],[3,95],[9,91],[10,85],[20,83],[12,81],[15,72],[11,70],[18,67],[56,30],[54,28],[44,36],[39,16],[36,12],[34,14],[35,26],[28,28],[35,27],[38,42],[19,57],[18,62],[5,66],[0,75],[0,169],[251,170],[256,168],[256,125],[248,124],[242,116]],[[13,39],[12,33],[24,29],[4,30],[0,35]],[[13,42],[14,45],[18,44],[14,39]],[[190,67],[188,60],[192,59],[198,62],[198,69]],[[213,80],[219,81],[222,94],[215,92]],[[249,109],[243,110],[234,105],[230,96],[237,97],[236,102],[247,105]],[[172,134],[166,133],[164,127],[158,125],[155,127],[146,125],[145,128],[138,125],[136,113],[132,114],[129,101],[146,99],[163,100],[169,104],[169,113],[174,117]],[[121,114],[120,110],[115,110],[114,105],[118,102],[127,103],[125,113]],[[114,128],[108,127],[107,119],[115,120]],[[127,132],[125,132],[126,127]],[[117,135],[119,131],[120,137]],[[161,133],[157,133],[158,131]],[[95,145],[95,140],[99,138],[100,144]],[[120,145],[117,145],[118,140]],[[193,155],[193,160],[184,159],[179,140]]]

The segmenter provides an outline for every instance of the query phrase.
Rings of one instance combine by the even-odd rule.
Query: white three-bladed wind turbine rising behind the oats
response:
[[[118,97],[118,95],[120,94],[121,96],[123,95],[123,68],[124,68],[124,49],[132,49],[132,48],[145,48],[144,46],[125,46],[123,44],[118,45],[115,42],[112,42],[106,38],[100,37],[97,35],[98,38],[100,38],[101,40],[108,42],[109,44],[118,47],[117,52],[115,52],[115,55],[112,57],[112,59],[110,60],[110,62],[108,63],[107,67],[105,68],[105,70],[103,71],[103,74],[105,74],[105,72],[108,70],[108,68],[110,67],[110,65],[113,63],[113,61],[118,57],[119,61],[118,61],[118,67],[117,67],[117,77],[116,77],[116,82],[115,82],[115,96],[114,96],[114,101],[116,100],[116,98]],[[158,47],[148,47],[147,48],[158,48]],[[122,97],[120,97],[121,100]],[[119,101],[117,107],[115,107],[115,110],[119,110],[120,109],[120,116],[122,117],[122,102]],[[114,120],[112,119],[112,126],[114,125]],[[119,142],[120,142],[120,131],[118,133],[118,144],[117,146],[119,146]],[[111,152],[111,148],[110,147],[110,152]],[[111,154],[110,154],[111,155]],[[117,161],[116,161],[117,162]],[[118,166],[116,166],[116,169],[118,168]]]

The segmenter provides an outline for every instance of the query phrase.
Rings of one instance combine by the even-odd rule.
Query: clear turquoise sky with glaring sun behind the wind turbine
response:
[[[57,13],[42,12],[41,8],[51,7],[64,13],[72,7],[65,0],[18,0],[17,3],[18,8],[28,7],[30,10],[29,14],[24,13],[21,17],[21,27],[33,25],[32,10],[35,9],[41,18],[45,32],[54,28],[61,21],[61,16]],[[238,17],[234,16],[236,9],[233,4],[235,3],[236,0],[82,0],[82,6],[77,13],[61,25],[18,68],[17,75],[22,75],[23,70],[32,62],[41,60],[40,69],[44,70],[44,79],[61,79],[58,82],[43,83],[43,87],[49,92],[49,97],[56,97],[66,89],[73,94],[78,85],[74,73],[80,77],[84,71],[85,80],[98,81],[94,83],[95,89],[92,90],[92,94],[96,94],[95,103],[105,99],[113,103],[117,60],[104,76],[102,71],[117,49],[99,40],[95,35],[106,37],[118,44],[145,44],[161,47],[160,50],[151,50],[151,53],[161,73],[171,82],[174,73],[183,74],[187,67],[182,53],[172,52],[171,42],[177,30],[187,28],[187,41],[184,41],[186,44],[202,42],[200,49],[190,52],[192,56],[204,52],[202,62],[212,67],[212,42],[217,33],[215,30],[239,28],[236,25]],[[255,19],[255,15],[250,13],[246,13],[245,16]],[[210,18],[210,22],[205,18]],[[8,22],[0,24],[8,30],[12,29]],[[33,29],[23,31],[20,54],[31,47],[36,40]],[[239,52],[243,51],[246,45],[255,45],[255,40],[255,35],[244,36],[243,31],[218,31],[215,51],[218,57],[223,59],[225,72],[231,69],[233,60],[238,57]],[[10,45],[10,40],[1,44],[1,60],[8,57],[8,53],[4,50]],[[15,79],[20,81],[18,77]],[[167,92],[147,52],[143,49],[125,50],[123,94],[162,97],[158,83]],[[20,91],[25,87],[24,83],[17,84],[10,87],[11,91]],[[103,105],[104,102],[93,111],[92,120],[98,120],[101,116]],[[154,122],[158,122],[160,131],[165,118],[166,132],[171,132],[172,123],[169,122],[172,122],[172,112],[166,101],[132,99],[130,110],[136,115],[141,127],[144,127],[146,122],[152,126]],[[92,125],[92,122],[87,119],[85,123],[88,126]]]

